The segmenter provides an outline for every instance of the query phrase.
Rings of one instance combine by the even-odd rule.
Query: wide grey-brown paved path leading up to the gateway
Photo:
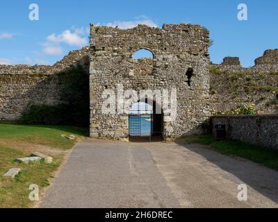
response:
[[[248,187],[239,201],[238,185]],[[40,207],[278,207],[278,172],[202,145],[85,139]]]

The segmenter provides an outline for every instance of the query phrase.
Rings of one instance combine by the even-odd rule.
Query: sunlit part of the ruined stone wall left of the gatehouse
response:
[[[30,103],[56,105],[63,85],[58,74],[88,60],[88,47],[72,51],[54,65],[0,65],[0,119],[17,119]]]

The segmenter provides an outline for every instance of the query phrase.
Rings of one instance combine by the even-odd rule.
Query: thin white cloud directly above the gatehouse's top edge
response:
[[[118,28],[127,29],[127,28],[134,28],[138,26],[138,24],[143,24],[150,27],[158,27],[158,25],[154,21],[152,21],[152,19],[149,19],[144,15],[140,17],[136,17],[136,20],[134,21],[115,21],[113,23],[109,22],[103,25],[97,24],[97,26],[111,26],[111,27],[117,26]]]

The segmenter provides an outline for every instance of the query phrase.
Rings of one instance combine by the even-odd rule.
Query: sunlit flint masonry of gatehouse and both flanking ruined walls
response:
[[[236,105],[256,103],[263,113],[278,113],[278,105],[267,105],[268,101],[275,103],[277,97],[273,89],[278,89],[278,49],[266,50],[250,68],[241,67],[237,57],[224,58],[222,64],[213,65],[222,74],[209,74],[208,44],[208,31],[198,25],[140,25],[127,30],[91,25],[90,46],[71,51],[54,65],[0,65],[0,119],[17,119],[30,103],[63,103],[59,96],[63,82],[58,76],[76,64],[86,65],[90,72],[91,137],[128,137],[126,114],[101,113],[101,93],[104,89],[116,92],[119,83],[124,89],[136,91],[177,88],[177,120],[163,118],[165,139],[202,133],[199,126],[211,110],[231,110]],[[154,58],[133,60],[138,49],[151,51]],[[193,69],[190,86],[186,82],[189,68]],[[234,82],[229,85],[235,78],[246,84],[242,88]],[[245,86],[254,83],[259,90],[245,93]]]

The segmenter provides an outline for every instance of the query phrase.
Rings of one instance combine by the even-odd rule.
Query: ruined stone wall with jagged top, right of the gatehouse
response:
[[[224,112],[254,103],[261,114],[278,113],[278,50],[265,51],[255,64],[245,68],[223,62],[210,67],[211,110]]]

